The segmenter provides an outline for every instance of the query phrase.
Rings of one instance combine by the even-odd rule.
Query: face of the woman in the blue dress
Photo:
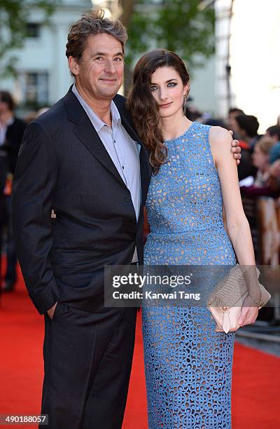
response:
[[[183,86],[179,73],[173,67],[159,67],[151,76],[151,92],[160,107],[160,116],[168,118],[182,112],[183,97],[189,85]]]

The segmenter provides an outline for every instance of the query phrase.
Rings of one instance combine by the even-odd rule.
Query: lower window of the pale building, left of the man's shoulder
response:
[[[25,104],[41,107],[48,104],[48,73],[22,74],[22,95]]]

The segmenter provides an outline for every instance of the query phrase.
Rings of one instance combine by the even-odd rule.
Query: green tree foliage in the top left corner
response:
[[[31,8],[44,13],[44,22],[55,11],[59,0],[0,0],[0,74],[15,74],[16,57],[7,53],[22,48],[27,37]]]

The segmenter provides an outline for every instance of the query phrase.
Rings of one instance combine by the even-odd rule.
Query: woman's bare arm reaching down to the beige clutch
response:
[[[232,246],[235,249],[237,259],[241,266],[255,266],[251,231],[243,210],[239,191],[237,165],[230,153],[230,135],[228,135],[228,131],[223,128],[212,127],[210,130],[209,142],[221,182],[225,219]],[[248,270],[245,278],[249,294],[253,297],[254,301],[260,301],[260,288],[256,287],[256,285],[258,285],[258,280],[255,268],[253,270]],[[241,317],[239,319],[240,325],[253,323],[258,315],[258,308],[253,304],[254,301],[251,297],[249,296],[244,301]]]

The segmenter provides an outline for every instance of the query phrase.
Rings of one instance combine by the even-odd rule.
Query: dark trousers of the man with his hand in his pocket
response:
[[[50,429],[122,427],[136,315],[135,308],[89,313],[61,303],[52,320],[45,315],[42,414]]]

